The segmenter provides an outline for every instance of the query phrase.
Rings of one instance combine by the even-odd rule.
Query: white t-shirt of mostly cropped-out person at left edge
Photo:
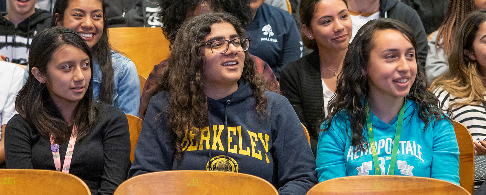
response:
[[[24,70],[12,63],[0,61],[0,124],[5,125],[17,114],[15,97],[22,88]],[[1,133],[1,130],[0,130]]]

